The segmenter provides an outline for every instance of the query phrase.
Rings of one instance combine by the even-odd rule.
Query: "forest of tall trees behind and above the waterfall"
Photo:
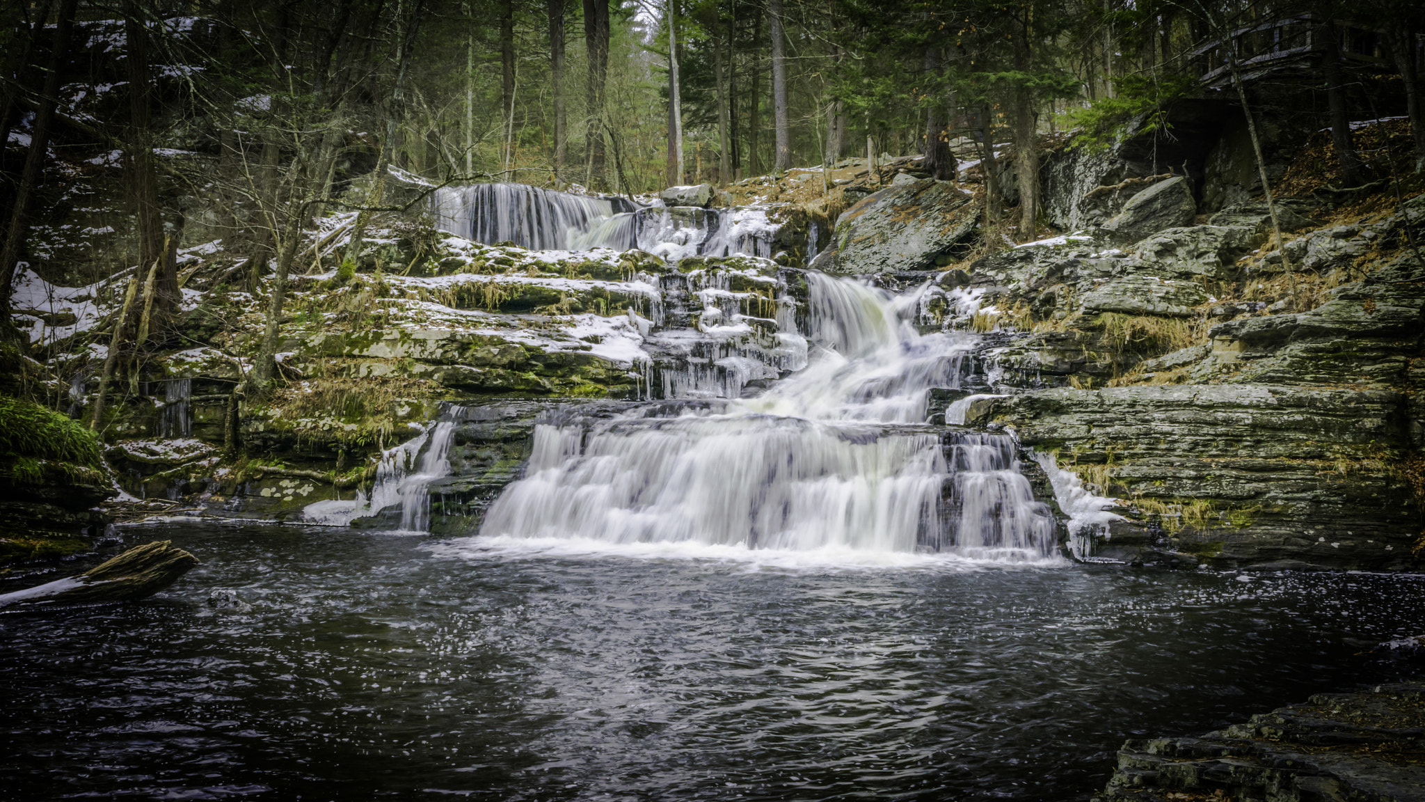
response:
[[[7,0],[0,13],[0,121],[27,146],[0,161],[0,260],[26,258],[47,148],[104,143],[134,220],[135,253],[115,261],[168,257],[160,307],[177,297],[184,197],[217,210],[229,251],[285,275],[288,234],[353,178],[375,176],[346,208],[393,208],[388,166],[624,194],[848,154],[923,153],[925,173],[953,178],[952,141],[990,166],[985,143],[1003,143],[1000,158],[1036,166],[1046,136],[1094,147],[1130,120],[1153,130],[1203,74],[1235,70],[1234,53],[1290,47],[1251,40],[1290,34],[1280,21],[1294,16],[1341,50],[1352,26],[1382,31],[1372,47],[1399,71],[1425,163],[1425,11],[1404,0]],[[1227,33],[1237,47],[1220,46]],[[167,158],[195,148],[208,167]],[[1037,170],[1017,173],[1015,217],[1032,234]]]

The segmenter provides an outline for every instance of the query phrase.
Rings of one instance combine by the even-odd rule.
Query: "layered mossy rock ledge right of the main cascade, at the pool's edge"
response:
[[[1150,385],[1045,390],[975,412],[1123,499],[1100,557],[1402,569],[1425,524],[1396,471],[1405,402],[1394,390]]]

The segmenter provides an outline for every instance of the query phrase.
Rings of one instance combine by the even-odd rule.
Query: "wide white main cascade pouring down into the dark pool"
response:
[[[916,298],[808,275],[811,364],[761,397],[542,424],[480,534],[584,544],[1052,558],[1056,525],[1007,435],[925,425],[972,335],[921,335]]]

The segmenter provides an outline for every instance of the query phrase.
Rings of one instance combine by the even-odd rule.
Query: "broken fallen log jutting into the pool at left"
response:
[[[0,608],[141,599],[172,585],[197,564],[197,557],[174,548],[172,541],[154,541],[134,547],[78,577],[0,594]]]

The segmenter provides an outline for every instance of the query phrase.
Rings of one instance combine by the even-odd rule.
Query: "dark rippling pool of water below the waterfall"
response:
[[[1419,577],[123,535],[204,562],[0,615],[0,798],[1086,799],[1124,738],[1391,678],[1361,642],[1425,621]]]

